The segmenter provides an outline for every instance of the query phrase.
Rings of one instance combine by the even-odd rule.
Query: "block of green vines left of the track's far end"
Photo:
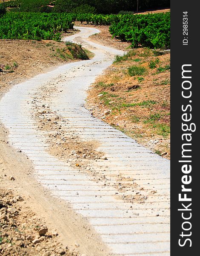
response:
[[[0,38],[60,41],[60,32],[73,29],[73,16],[10,12],[0,18]]]

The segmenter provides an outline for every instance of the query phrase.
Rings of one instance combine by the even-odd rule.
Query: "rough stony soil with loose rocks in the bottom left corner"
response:
[[[13,176],[7,177],[14,182]],[[58,239],[55,230],[49,230],[44,220],[38,218],[26,206],[29,198],[13,193],[12,189],[0,189],[0,253],[7,255],[76,256]]]

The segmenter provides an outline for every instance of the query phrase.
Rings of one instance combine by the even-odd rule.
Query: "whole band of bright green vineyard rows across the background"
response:
[[[0,17],[0,38],[60,41],[60,34],[73,29],[75,20],[95,26],[111,25],[113,37],[131,42],[131,47],[170,47],[170,12],[149,15],[8,12]]]

